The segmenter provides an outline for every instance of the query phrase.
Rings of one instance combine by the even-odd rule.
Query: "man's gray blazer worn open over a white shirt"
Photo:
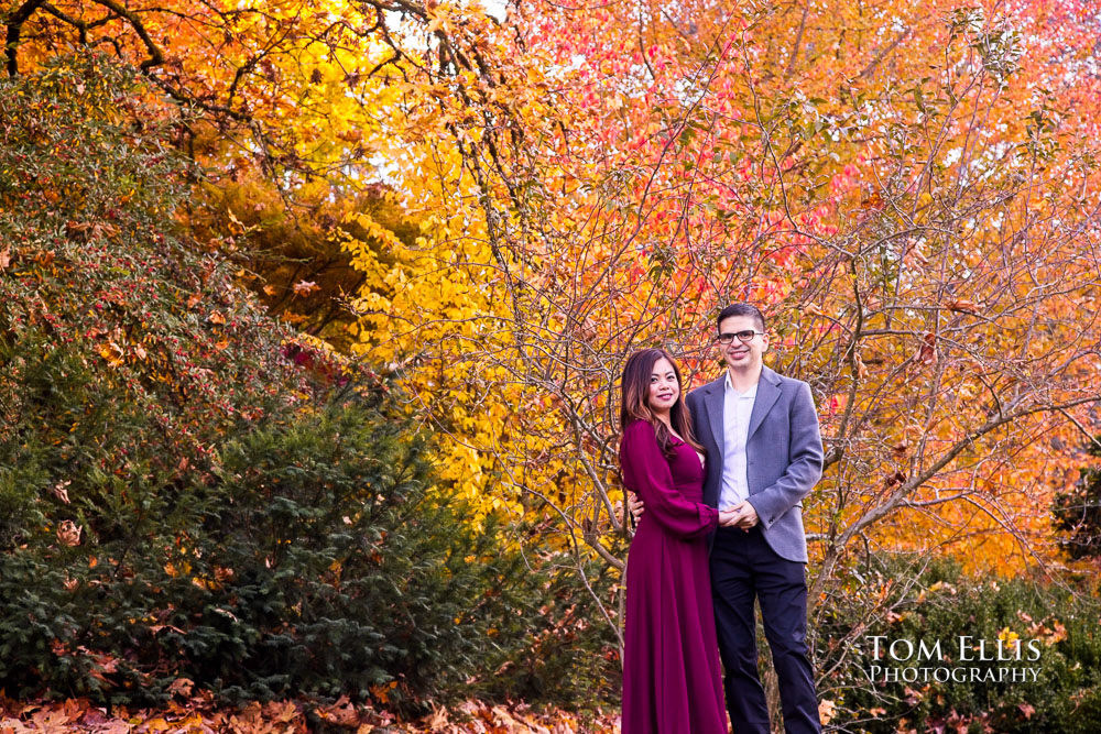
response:
[[[726,374],[694,390],[686,403],[696,440],[707,449],[704,502],[719,505],[722,484],[722,405]],[[745,442],[749,502],[764,538],[782,558],[807,562],[803,497],[822,475],[822,439],[810,386],[761,372]],[[713,538],[712,538],[713,540]]]

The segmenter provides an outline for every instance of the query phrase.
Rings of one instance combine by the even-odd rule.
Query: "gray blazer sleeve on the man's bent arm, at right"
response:
[[[825,452],[815,399],[810,395],[810,385],[805,382],[797,384],[788,416],[791,461],[771,486],[749,497],[765,528],[772,527],[795,503],[810,494],[822,475]]]

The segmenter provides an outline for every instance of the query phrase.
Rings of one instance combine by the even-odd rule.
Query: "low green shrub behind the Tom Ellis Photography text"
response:
[[[883,588],[884,598],[897,596],[890,614],[868,621],[858,611],[838,609],[824,615],[826,624],[817,631],[822,638],[853,643],[848,649],[827,645],[820,661],[830,671],[822,688],[833,689],[831,695],[840,702],[833,723],[865,732],[894,732],[902,719],[906,728],[918,731],[990,726],[1054,734],[1101,727],[1101,601],[1095,589],[1029,578],[968,578],[948,561],[920,571],[898,565],[886,578],[891,583]],[[906,591],[896,594],[894,589]],[[855,596],[839,600],[838,606]],[[865,621],[855,626],[855,620]],[[1002,660],[996,659],[999,639]],[[906,642],[897,643],[892,657],[890,645],[896,640]],[[938,640],[940,657],[927,659],[922,643],[931,650]],[[844,655],[849,657],[842,660]],[[894,673],[889,678],[882,668]],[[923,668],[949,672],[937,680]],[[1028,668],[1035,675],[1018,673],[1016,680],[1000,672]]]

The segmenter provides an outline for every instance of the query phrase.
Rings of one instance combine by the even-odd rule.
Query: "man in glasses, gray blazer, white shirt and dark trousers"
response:
[[[735,734],[768,734],[757,676],[754,600],[780,681],[788,734],[820,732],[807,658],[807,541],[802,500],[821,476],[822,445],[810,387],[764,366],[764,315],[722,309],[716,344],[723,376],[688,395],[696,439],[707,449],[704,501],[737,514],[711,538],[711,596],[727,710]],[[632,502],[632,511],[641,510]]]

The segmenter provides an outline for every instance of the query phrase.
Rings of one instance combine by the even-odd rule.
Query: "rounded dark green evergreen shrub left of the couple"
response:
[[[216,669],[203,679],[247,678],[227,689],[244,698],[366,698],[392,681],[388,698],[435,697],[477,671],[500,636],[524,588],[520,559],[501,552],[494,527],[473,534],[461,507],[428,497],[425,447],[403,421],[364,417],[331,409],[226,447],[224,494],[207,512],[220,548],[203,556],[235,581],[201,594],[190,613],[215,613],[176,635],[226,648],[206,656]]]

